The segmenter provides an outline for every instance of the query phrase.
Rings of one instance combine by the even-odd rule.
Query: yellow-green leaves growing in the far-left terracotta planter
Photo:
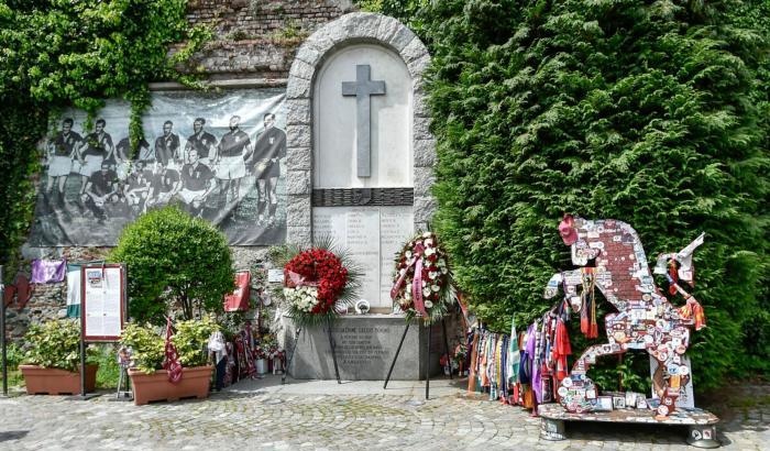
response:
[[[23,363],[46,369],[79,371],[80,322],[53,320],[33,324],[24,336],[26,352]],[[88,348],[87,359],[96,356],[96,349]],[[90,359],[89,359],[90,360]]]

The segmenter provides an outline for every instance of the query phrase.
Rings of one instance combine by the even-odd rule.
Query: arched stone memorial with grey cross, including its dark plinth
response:
[[[371,306],[372,314],[333,326],[343,378],[384,378],[406,326],[393,314],[389,290],[396,252],[428,229],[436,207],[435,141],[422,92],[429,62],[400,22],[356,12],[310,35],[289,73],[287,241],[310,245],[331,237],[348,249],[364,268],[361,298]],[[294,377],[333,377],[326,330],[317,329],[299,337]],[[294,328],[284,330],[289,345]],[[427,329],[409,332],[396,380],[418,378],[428,364],[420,356]],[[438,359],[436,352],[430,361],[437,370]]]

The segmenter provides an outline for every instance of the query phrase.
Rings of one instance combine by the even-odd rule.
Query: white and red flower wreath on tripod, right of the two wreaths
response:
[[[396,256],[391,298],[407,314],[433,323],[458,301],[447,253],[432,232],[418,233]]]

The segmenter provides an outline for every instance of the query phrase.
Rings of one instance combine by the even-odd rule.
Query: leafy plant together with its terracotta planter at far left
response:
[[[80,324],[54,320],[34,324],[24,336],[28,350],[19,370],[30,395],[80,394]],[[94,350],[86,353],[94,358]],[[86,392],[96,387],[97,364],[86,365]]]

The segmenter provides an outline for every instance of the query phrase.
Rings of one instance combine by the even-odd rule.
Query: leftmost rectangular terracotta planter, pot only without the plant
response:
[[[44,369],[37,365],[19,365],[24,375],[28,395],[79,395],[80,373],[59,369]],[[86,393],[96,388],[96,373],[99,365],[86,365]]]

